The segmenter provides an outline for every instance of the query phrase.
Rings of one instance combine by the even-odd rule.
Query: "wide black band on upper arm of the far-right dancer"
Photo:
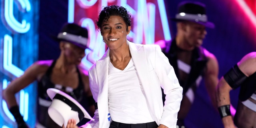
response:
[[[247,78],[247,76],[238,68],[237,64],[233,66],[224,76],[224,79],[233,89],[238,88]]]

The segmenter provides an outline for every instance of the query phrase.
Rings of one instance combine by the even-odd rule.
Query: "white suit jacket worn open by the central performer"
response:
[[[177,115],[182,100],[182,87],[178,83],[168,58],[162,53],[158,45],[127,42],[152,118],[158,125],[163,124],[168,128],[176,128]],[[104,56],[96,61],[88,71],[90,88],[94,100],[98,103],[98,110],[94,113],[93,118],[95,120],[82,126],[84,128],[109,128],[112,121],[108,108],[109,59],[109,50],[107,50]],[[161,86],[166,94],[164,107]]]

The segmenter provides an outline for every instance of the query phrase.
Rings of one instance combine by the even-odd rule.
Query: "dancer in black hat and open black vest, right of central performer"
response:
[[[214,28],[214,24],[208,21],[205,5],[200,2],[181,2],[172,20],[177,22],[177,34],[173,40],[166,42],[164,53],[183,87],[177,128],[185,128],[184,119],[202,78],[216,106],[214,90],[218,84],[218,61],[214,54],[201,46],[207,34],[206,27]]]

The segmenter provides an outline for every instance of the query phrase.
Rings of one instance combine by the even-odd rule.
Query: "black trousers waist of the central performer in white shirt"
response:
[[[156,122],[149,122],[143,124],[124,124],[112,121],[109,128],[157,128]]]

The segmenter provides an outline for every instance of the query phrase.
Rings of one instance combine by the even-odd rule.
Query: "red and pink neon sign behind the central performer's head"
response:
[[[128,40],[137,44],[154,44],[171,40],[164,0],[69,0],[68,22],[78,23],[89,30],[89,49],[82,63],[90,68],[105,52],[105,44],[94,21],[102,6],[124,6],[131,14],[132,30]]]

